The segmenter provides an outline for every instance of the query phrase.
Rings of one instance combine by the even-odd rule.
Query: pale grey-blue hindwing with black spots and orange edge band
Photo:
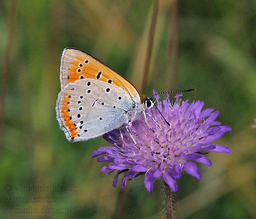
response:
[[[70,82],[62,89],[56,112],[67,139],[84,141],[120,127],[132,104],[124,89],[87,78]]]

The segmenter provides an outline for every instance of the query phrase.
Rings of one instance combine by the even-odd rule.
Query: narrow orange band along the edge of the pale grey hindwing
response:
[[[75,124],[72,123],[69,112],[68,112],[68,99],[69,99],[69,94],[66,94],[63,101],[63,105],[61,107],[62,110],[62,118],[65,121],[65,126],[67,126],[71,132],[71,137],[75,138],[77,135],[76,127]]]

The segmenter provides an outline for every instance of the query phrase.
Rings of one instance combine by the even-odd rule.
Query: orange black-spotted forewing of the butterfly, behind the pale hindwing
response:
[[[61,89],[68,83],[83,78],[97,79],[115,85],[126,91],[132,99],[140,99],[138,91],[129,81],[102,62],[81,50],[64,49],[60,67]]]

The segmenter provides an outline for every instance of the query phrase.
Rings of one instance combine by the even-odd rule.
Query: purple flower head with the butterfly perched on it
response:
[[[154,91],[153,91],[154,93]],[[154,93],[155,94],[155,93]],[[181,101],[182,93],[178,93],[174,104],[170,103],[169,96],[161,101],[157,95],[157,107],[146,109],[147,122],[155,131],[151,131],[144,122],[143,115],[129,127],[137,145],[133,143],[125,128],[113,130],[103,135],[112,146],[100,147],[93,152],[92,157],[98,157],[99,162],[111,162],[104,166],[101,172],[109,171],[107,175],[117,170],[113,180],[116,187],[120,173],[125,172],[121,188],[125,187],[128,177],[133,180],[136,174],[145,172],[144,183],[149,192],[153,191],[155,178],[163,176],[165,182],[176,192],[176,179],[181,177],[181,170],[196,178],[201,178],[201,173],[196,164],[197,161],[211,166],[211,161],[204,155],[206,151],[230,153],[230,149],[223,145],[212,144],[214,140],[223,136],[224,132],[231,131],[229,126],[221,126],[215,121],[219,111],[213,108],[201,112],[204,103],[202,101]],[[163,106],[162,106],[163,105]],[[153,120],[155,119],[155,122]],[[203,152],[201,152],[203,151]]]

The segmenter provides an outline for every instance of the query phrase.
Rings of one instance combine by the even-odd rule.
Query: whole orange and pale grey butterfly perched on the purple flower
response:
[[[61,56],[57,120],[68,141],[86,141],[131,124],[153,101],[124,77],[75,48]]]

